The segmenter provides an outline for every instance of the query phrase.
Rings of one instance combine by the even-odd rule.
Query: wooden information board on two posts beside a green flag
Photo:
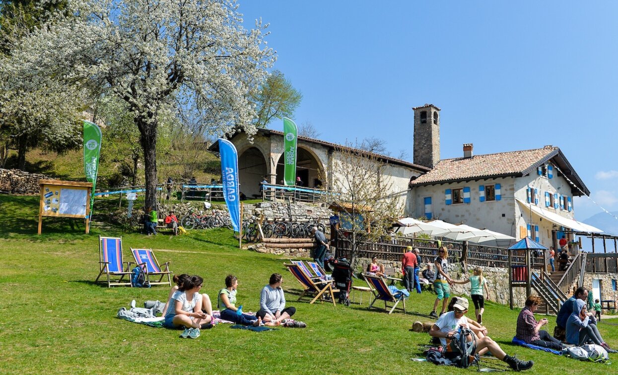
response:
[[[86,219],[86,233],[90,232],[90,192],[92,183],[41,179],[38,234],[44,216]]]

